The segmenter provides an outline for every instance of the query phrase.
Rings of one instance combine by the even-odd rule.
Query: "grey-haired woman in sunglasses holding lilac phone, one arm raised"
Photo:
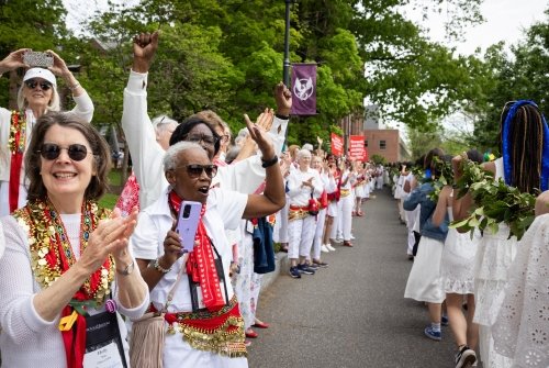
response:
[[[223,186],[212,188],[217,174],[212,155],[197,142],[176,143],[164,158],[169,187],[141,213],[131,239],[150,290],[149,311],[165,312],[168,333],[161,353],[164,368],[248,366],[244,320],[229,282],[232,249],[225,228],[236,228],[240,219],[279,211],[285,203],[285,193],[272,143],[245,118],[261,152],[266,171],[264,194],[227,191]],[[204,126],[202,140],[213,140],[213,130],[205,123]],[[200,218],[194,244],[182,244],[181,234],[176,232],[177,219],[189,201],[201,203]],[[132,336],[132,344],[149,344],[137,339]],[[132,360],[137,361],[134,354],[142,349],[133,346]]]

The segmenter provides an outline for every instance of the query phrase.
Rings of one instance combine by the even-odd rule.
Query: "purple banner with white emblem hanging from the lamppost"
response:
[[[316,115],[316,64],[292,64],[292,115]]]

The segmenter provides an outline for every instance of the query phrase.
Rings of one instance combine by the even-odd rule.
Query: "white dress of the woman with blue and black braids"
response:
[[[495,161],[495,176],[503,177],[503,159]],[[486,368],[511,367],[512,360],[494,350],[492,324],[498,313],[497,298],[507,283],[507,270],[515,258],[517,238],[508,238],[509,227],[500,223],[495,234],[485,231],[479,242],[474,259],[474,298],[475,310],[473,322],[480,325],[479,347],[481,360]]]

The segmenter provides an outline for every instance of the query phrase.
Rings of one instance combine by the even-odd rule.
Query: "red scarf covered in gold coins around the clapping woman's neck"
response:
[[[13,216],[29,234],[31,267],[36,281],[43,289],[51,287],[76,263],[59,214],[48,201],[37,200],[16,210]],[[88,246],[89,235],[99,220],[107,216],[108,211],[99,210],[97,203],[87,201],[82,204],[80,254]],[[74,299],[76,301],[93,300],[96,306],[99,306],[109,295],[113,279],[114,260],[112,256],[109,256],[103,265],[85,281]]]

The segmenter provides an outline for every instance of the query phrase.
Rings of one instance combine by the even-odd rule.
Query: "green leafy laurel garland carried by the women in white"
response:
[[[471,234],[475,227],[481,232],[488,230],[495,234],[500,224],[504,223],[509,227],[508,237],[514,235],[520,239],[534,222],[536,197],[507,186],[501,178],[494,180],[492,172],[469,159],[463,159],[462,171],[456,183],[457,198],[469,192],[474,208],[468,218],[455,221],[450,226],[463,232],[470,231]]]

